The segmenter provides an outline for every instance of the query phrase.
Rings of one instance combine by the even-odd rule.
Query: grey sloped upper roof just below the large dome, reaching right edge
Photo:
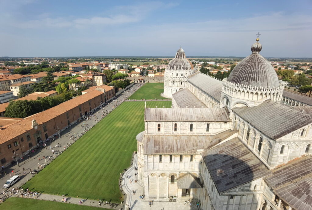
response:
[[[232,111],[275,140],[312,123],[311,115],[271,100],[258,106],[233,108]]]

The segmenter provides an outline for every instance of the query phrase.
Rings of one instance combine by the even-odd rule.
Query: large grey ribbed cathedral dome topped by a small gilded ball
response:
[[[228,82],[243,86],[279,87],[278,78],[274,68],[259,52],[261,44],[257,42],[251,46],[251,55],[244,58],[232,70],[227,78]]]

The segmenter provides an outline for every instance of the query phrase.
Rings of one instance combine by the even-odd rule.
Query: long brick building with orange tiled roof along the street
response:
[[[114,91],[114,88],[112,89]],[[54,136],[66,126],[76,123],[81,117],[105,102],[107,92],[92,90],[68,100],[51,109],[0,128],[0,166],[9,165],[17,157],[27,154],[39,145],[39,141]],[[113,94],[115,96],[115,92]]]

